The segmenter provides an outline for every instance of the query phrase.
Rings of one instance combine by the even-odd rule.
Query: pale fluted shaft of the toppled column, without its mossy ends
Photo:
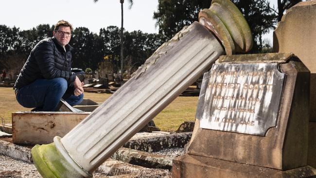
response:
[[[56,144],[57,149],[67,150],[80,167],[91,173],[224,53],[206,27],[198,22],[185,27],[64,136],[61,144]]]

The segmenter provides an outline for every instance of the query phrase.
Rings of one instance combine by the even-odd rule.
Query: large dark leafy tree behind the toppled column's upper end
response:
[[[168,39],[180,31],[184,25],[198,20],[198,12],[210,8],[210,0],[158,0],[158,11],[154,13],[159,26],[159,34]],[[245,16],[253,33],[255,44],[252,53],[262,50],[263,34],[273,28],[275,15],[266,0],[233,0]]]

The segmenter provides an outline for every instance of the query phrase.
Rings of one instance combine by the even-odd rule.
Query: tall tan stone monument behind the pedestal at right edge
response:
[[[316,1],[286,11],[273,36],[273,51],[294,53],[311,71],[310,121],[316,122]]]

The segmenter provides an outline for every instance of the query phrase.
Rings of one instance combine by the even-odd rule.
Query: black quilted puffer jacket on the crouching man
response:
[[[68,44],[64,48],[54,37],[45,38],[31,51],[18,79],[14,85],[20,89],[40,78],[65,78],[68,85],[75,80],[76,74],[71,72],[71,50]]]

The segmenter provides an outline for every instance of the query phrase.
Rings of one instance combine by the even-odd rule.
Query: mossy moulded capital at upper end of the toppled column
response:
[[[199,22],[220,39],[228,55],[252,48],[252,34],[246,19],[230,0],[212,0],[209,9],[200,11]]]

